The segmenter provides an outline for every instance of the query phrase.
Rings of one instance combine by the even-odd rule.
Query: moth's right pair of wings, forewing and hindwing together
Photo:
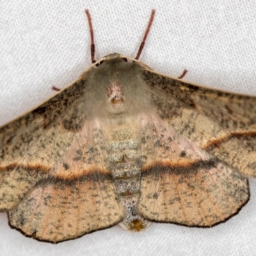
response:
[[[146,160],[138,214],[189,227],[212,227],[237,214],[250,196],[243,173],[256,175],[256,99],[150,70],[143,77],[156,114],[141,124]]]

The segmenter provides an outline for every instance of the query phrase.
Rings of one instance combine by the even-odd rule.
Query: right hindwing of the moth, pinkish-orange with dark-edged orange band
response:
[[[145,163],[136,210],[143,218],[211,227],[246,204],[246,177],[180,136],[160,118],[152,116],[142,127]]]

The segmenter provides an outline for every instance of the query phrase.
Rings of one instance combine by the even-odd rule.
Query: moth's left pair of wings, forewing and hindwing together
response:
[[[124,219],[85,94],[79,79],[0,129],[0,209],[26,236],[58,243]]]

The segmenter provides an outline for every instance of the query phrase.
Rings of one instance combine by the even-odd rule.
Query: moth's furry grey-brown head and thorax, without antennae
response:
[[[134,115],[147,109],[149,94],[143,80],[145,66],[132,58],[113,53],[93,63],[84,73],[87,95],[94,116]],[[94,104],[94,106],[93,106]]]

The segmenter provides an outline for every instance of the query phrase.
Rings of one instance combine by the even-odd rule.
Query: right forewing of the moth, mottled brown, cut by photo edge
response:
[[[143,72],[164,122],[235,170],[256,176],[256,98]],[[157,92],[157,93],[156,93]]]

